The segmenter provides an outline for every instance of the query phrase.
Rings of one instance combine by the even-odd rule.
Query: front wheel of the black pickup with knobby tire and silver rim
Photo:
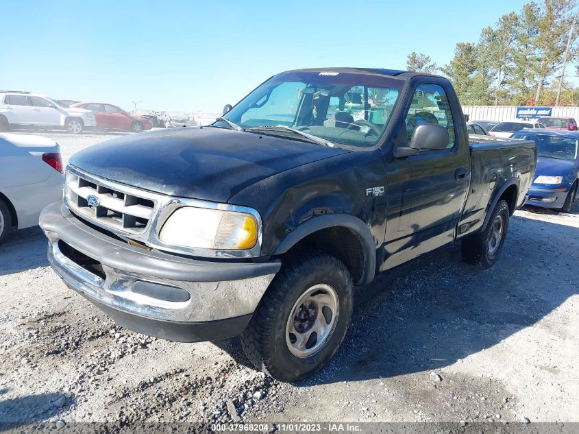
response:
[[[297,337],[288,333],[288,327],[294,326],[294,330],[297,330],[298,326],[304,325],[299,318],[302,311],[311,313],[310,307],[310,311],[302,309],[306,304],[297,306],[300,298],[310,291],[314,291],[312,296],[320,293],[325,296],[325,289],[317,289],[318,285],[332,289],[332,297],[338,302],[338,315],[332,313],[328,316],[333,321],[328,320],[328,311],[324,311],[326,306],[321,310],[315,308],[316,312],[323,312],[325,326],[330,324],[326,330],[330,332],[326,339],[321,339],[320,347],[316,349],[318,336],[312,333],[315,324],[310,329],[306,326],[301,336],[309,334],[310,339],[306,340],[304,351],[315,352],[297,357],[293,353],[298,351],[297,342],[291,342],[292,336],[295,340]],[[337,258],[318,251],[303,252],[287,258],[243,331],[241,343],[247,358],[258,370],[279,381],[297,381],[313,374],[332,358],[346,335],[352,317],[352,291],[352,276]],[[294,311],[294,320],[290,322],[289,317]],[[312,314],[314,316],[317,315]]]

